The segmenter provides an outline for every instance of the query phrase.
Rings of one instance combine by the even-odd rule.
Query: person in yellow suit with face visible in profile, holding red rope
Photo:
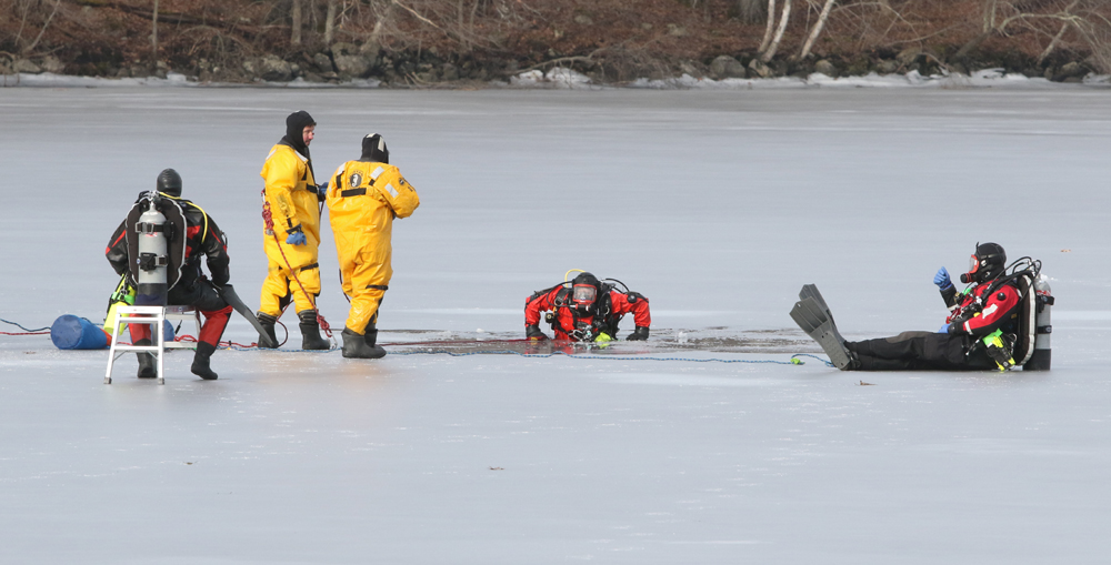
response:
[[[327,350],[329,343],[320,337],[316,309],[316,296],[320,294],[318,204],[322,200],[309,157],[316,125],[309,112],[291,113],[286,118],[286,137],[270,150],[262,165],[263,216],[269,212],[263,248],[269,264],[258,319],[271,343],[277,344],[274,323],[292,300],[300,320],[301,347]]]

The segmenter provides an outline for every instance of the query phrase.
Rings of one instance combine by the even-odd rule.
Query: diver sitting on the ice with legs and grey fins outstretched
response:
[[[821,344],[830,361],[842,371],[941,370],[977,371],[1014,365],[1012,345],[1019,325],[1021,293],[1019,276],[1007,273],[1007,253],[998,243],[978,244],[957,292],[945,268],[933,283],[949,306],[950,315],[939,332],[903,332],[893,337],[844,341],[833,316],[813,285],[803,286],[791,317]],[[1034,275],[1037,278],[1037,275]]]

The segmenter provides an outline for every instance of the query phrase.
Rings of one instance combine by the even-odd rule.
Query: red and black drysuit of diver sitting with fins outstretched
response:
[[[845,342],[859,371],[995,369],[981,341],[995,330],[1018,331],[1019,289],[1013,281],[980,283],[958,294],[953,286],[941,291],[951,315],[945,333],[903,332],[894,337]],[[1013,340],[1012,340],[1013,341]]]

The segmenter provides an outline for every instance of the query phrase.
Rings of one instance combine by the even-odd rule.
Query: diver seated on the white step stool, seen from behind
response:
[[[174,306],[196,306],[204,315],[204,323],[201,324],[201,334],[197,336],[197,353],[193,355],[193,364],[190,367],[193,374],[206,380],[214,380],[217,374],[212,371],[209,359],[216,352],[224,327],[228,326],[228,317],[232,307],[220,295],[219,287],[228,284],[231,272],[228,270],[230,258],[228,256],[228,239],[216,225],[216,222],[201,210],[200,206],[181,198],[181,176],[173,169],[167,169],[159,173],[157,189],[161,196],[167,213],[177,212],[178,218],[183,216],[184,233],[173,233],[171,228],[167,230],[167,246],[170,255],[170,270],[176,271],[173,276],[176,282],[171,283],[167,293],[167,304]],[[140,194],[137,205],[143,204],[147,193]],[[160,210],[163,206],[160,205]],[[134,209],[132,209],[134,213]],[[130,215],[129,215],[130,218]],[[112,234],[112,239],[104,250],[108,262],[112,264],[116,274],[123,275],[130,271],[129,282],[136,284],[140,265],[129,261],[129,254],[136,255],[136,251],[129,252],[128,231],[134,231],[134,225],[128,225],[128,220],[120,223]],[[171,223],[167,223],[170,226]],[[183,248],[183,249],[182,249]],[[209,280],[201,271],[201,256],[208,264],[208,270],[212,274]],[[183,259],[179,259],[183,258]],[[129,269],[130,268],[130,269]],[[180,272],[180,274],[177,274]],[[168,276],[170,282],[170,276]],[[230,287],[230,286],[229,286]],[[131,341],[134,345],[150,345],[151,330],[147,324],[128,324],[131,332]],[[158,376],[158,367],[154,364],[154,356],[150,353],[137,353],[139,356],[139,379],[154,379]]]

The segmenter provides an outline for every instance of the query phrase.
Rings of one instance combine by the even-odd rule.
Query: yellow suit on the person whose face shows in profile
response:
[[[284,143],[270,150],[260,173],[266,179],[264,206],[269,204],[272,230],[264,226],[263,249],[267,252],[267,279],[262,282],[259,312],[281,315],[281,306],[292,292],[297,311],[313,310],[314,301],[304,295],[320,294],[320,268],[317,248],[320,244],[320,209],[317,181],[308,158]],[[300,229],[304,245],[286,243],[290,233]],[[293,280],[297,274],[301,285]]]

